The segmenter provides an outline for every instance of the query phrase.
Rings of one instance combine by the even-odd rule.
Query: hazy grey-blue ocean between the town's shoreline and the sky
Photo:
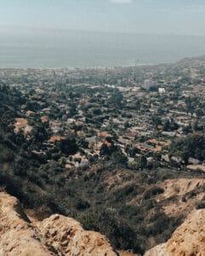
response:
[[[0,67],[114,67],[205,55],[205,38],[75,31],[0,32]]]

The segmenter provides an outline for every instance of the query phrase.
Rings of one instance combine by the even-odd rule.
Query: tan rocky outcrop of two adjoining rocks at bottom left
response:
[[[55,214],[31,223],[20,202],[0,192],[0,255],[115,256],[105,236],[83,230],[73,218]]]

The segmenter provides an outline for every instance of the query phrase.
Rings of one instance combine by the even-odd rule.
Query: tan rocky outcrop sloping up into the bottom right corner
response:
[[[194,210],[174,231],[167,243],[152,248],[145,256],[205,255],[205,209]]]

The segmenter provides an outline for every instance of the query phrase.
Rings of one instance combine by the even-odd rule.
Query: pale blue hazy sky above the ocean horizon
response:
[[[0,0],[0,27],[205,36],[205,0]]]

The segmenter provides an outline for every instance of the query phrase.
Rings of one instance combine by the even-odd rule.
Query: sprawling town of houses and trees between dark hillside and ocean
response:
[[[135,67],[135,73],[134,67],[5,69],[0,76],[27,99],[21,106],[22,117],[15,119],[15,132],[29,134],[30,119],[38,118],[51,130],[48,144],[71,133],[85,142],[81,153],[67,156],[67,168],[88,165],[88,156],[100,157],[102,144],[111,147],[111,142],[128,160],[157,153],[168,163],[168,147],[175,139],[204,132],[202,65],[196,61],[196,67],[183,62],[168,67]],[[151,89],[153,84],[155,90]],[[129,157],[128,148],[137,149],[134,157]],[[177,156],[172,160],[180,162]],[[202,163],[193,160],[188,168],[200,166]]]

